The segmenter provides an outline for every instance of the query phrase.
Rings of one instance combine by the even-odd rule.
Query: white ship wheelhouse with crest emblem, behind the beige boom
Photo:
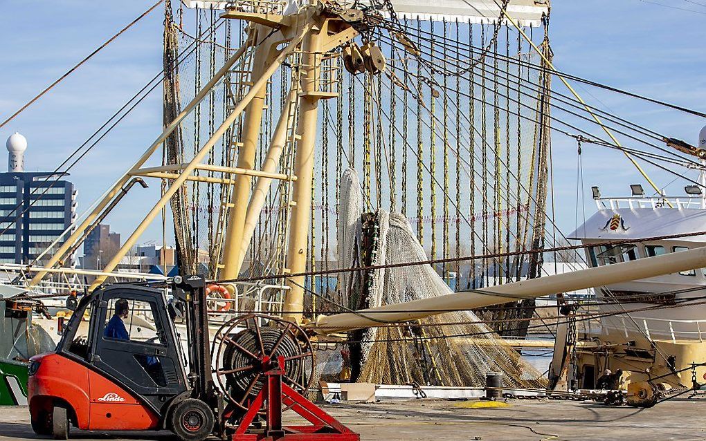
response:
[[[587,245],[590,267],[706,246],[706,235],[675,237],[705,230],[703,198],[596,198],[596,203],[598,211],[568,236]],[[605,338],[619,331],[638,341],[702,342],[706,306],[678,308],[678,303],[701,296],[705,288],[706,268],[598,286],[599,309],[605,315],[601,334]],[[618,312],[622,314],[609,315]]]

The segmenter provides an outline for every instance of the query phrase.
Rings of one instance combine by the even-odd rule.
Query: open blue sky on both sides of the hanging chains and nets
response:
[[[702,3],[700,6],[697,3]],[[683,107],[704,110],[706,102],[706,0],[554,1],[551,41],[558,69]],[[27,99],[51,83],[116,30],[145,11],[152,1],[88,2],[0,0],[0,117],[5,119]],[[162,14],[157,8],[107,49],[82,66],[0,129],[5,140],[14,131],[29,142],[26,169],[53,169],[68,152],[107,119],[161,69]],[[554,81],[557,90],[563,90]],[[578,86],[587,102],[669,136],[696,143],[706,121],[613,92]],[[79,190],[79,210],[88,207],[151,143],[161,127],[160,88],[119,128],[98,145],[71,180]],[[599,134],[597,128],[592,128]],[[576,145],[554,135],[554,187],[557,223],[566,233],[575,225]],[[4,151],[4,150],[3,150]],[[4,169],[4,159],[0,167]],[[599,185],[604,195],[626,195],[630,183],[647,183],[621,152],[583,148],[585,191]],[[645,166],[660,186],[672,177]],[[692,176],[695,174],[690,172]],[[108,221],[126,236],[146,205],[155,200],[156,183],[135,190],[130,207],[116,210]],[[683,181],[666,188],[683,193]],[[594,205],[586,203],[587,215]],[[144,207],[144,208],[143,208]],[[140,242],[160,239],[155,223]]]

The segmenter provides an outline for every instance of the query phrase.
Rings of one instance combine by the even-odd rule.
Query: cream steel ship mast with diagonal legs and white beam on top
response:
[[[292,13],[283,11],[285,4],[282,2],[252,2],[252,4],[238,5],[198,3],[206,7],[225,8],[226,12],[222,14],[222,18],[246,20],[249,23],[246,28],[246,32],[248,32],[246,42],[227,59],[222,68],[215,72],[213,78],[210,78],[191,102],[184,107],[176,103],[178,99],[176,91],[165,89],[165,93],[169,93],[172,109],[169,111],[170,114],[164,116],[164,131],[145,150],[133,167],[105,193],[85,220],[76,226],[73,234],[49,259],[46,265],[47,269],[61,262],[68,250],[76,243],[80,243],[86,231],[90,231],[96,222],[100,222],[100,219],[103,219],[104,215],[112,210],[121,195],[126,193],[131,179],[150,177],[160,179],[164,183],[161,197],[147,212],[136,230],[121,246],[121,249],[102,268],[104,273],[116,269],[121,258],[135,246],[145,228],[163,212],[162,210],[170,200],[174,205],[174,198],[178,200],[181,198],[181,205],[185,205],[186,200],[183,193],[185,183],[201,182],[227,188],[232,186],[233,188],[230,200],[226,201],[229,210],[225,216],[227,226],[225,226],[225,246],[222,247],[221,253],[222,260],[217,263],[216,267],[217,270],[220,270],[218,276],[222,279],[239,277],[253,234],[253,224],[257,221],[263,207],[263,194],[268,191],[268,183],[272,180],[291,184],[293,191],[293,198],[289,200],[289,206],[286,207],[286,210],[289,210],[288,243],[287,258],[282,273],[300,273],[306,270],[306,262],[311,258],[308,240],[311,228],[313,153],[317,135],[318,104],[322,99],[338,96],[338,91],[330,88],[332,83],[329,80],[322,81],[324,76],[322,64],[324,58],[330,56],[333,49],[351,42],[354,37],[359,35],[357,26],[371,30],[376,26],[376,23],[367,23],[366,17],[360,10],[345,9],[337,4],[313,0]],[[468,3],[474,6],[471,7]],[[496,26],[500,25],[500,17],[503,13],[508,18],[513,16],[516,23],[520,23],[520,25],[538,25],[547,11],[546,5],[538,6],[536,2],[530,0],[505,1],[503,6],[507,7],[507,11],[502,11],[502,7],[499,5],[488,6],[485,1],[462,1],[458,2],[456,6],[448,8],[430,7],[421,4],[421,2],[400,7],[395,6],[395,8],[397,8],[396,12],[399,16],[407,14],[407,16],[416,16],[417,18],[426,17],[429,20],[460,18],[468,20],[469,23],[496,23]],[[373,8],[374,10],[375,8]],[[393,13],[391,9],[390,13]],[[476,14],[476,16],[472,17],[468,15],[469,13]],[[169,40],[168,37],[165,35],[165,42],[170,42],[173,46],[174,41]],[[173,39],[173,36],[171,38]],[[198,44],[198,37],[196,42]],[[173,52],[174,49],[172,47],[169,50]],[[165,56],[173,58],[174,54],[165,53]],[[282,111],[277,130],[265,152],[267,157],[265,164],[268,165],[258,170],[255,164],[255,152],[263,135],[261,122],[265,107],[266,85],[273,73],[285,61],[292,63],[300,77],[297,79],[296,85],[294,82],[292,83],[292,91],[290,91],[291,102],[297,101],[296,104],[292,104],[298,111],[297,128],[290,131],[290,128],[293,128],[290,126],[295,119],[292,118],[291,112]],[[165,64],[168,64],[166,59]],[[229,112],[224,114],[223,123],[209,134],[209,139],[205,144],[196,146],[191,159],[185,162],[173,161],[174,163],[162,164],[157,167],[146,166],[148,160],[164,143],[175,145],[180,142],[180,125],[212,93],[214,87],[231,73],[244,72],[250,66],[252,68],[248,75],[241,75],[243,80],[241,84],[237,84],[241,90],[247,90],[247,92],[242,94],[242,99],[239,102],[228,107]],[[165,81],[165,87],[173,89],[174,86],[169,86],[169,84],[178,81],[178,78],[172,78],[171,75],[167,75],[167,77],[169,77],[167,78],[169,81]],[[181,112],[176,114],[176,109],[180,107]],[[213,152],[216,143],[240,118],[243,118],[244,122],[241,125],[236,167],[204,164],[204,159]],[[294,169],[290,173],[277,172],[277,159],[284,143],[296,143]],[[207,176],[203,176],[204,174]],[[219,177],[218,174],[222,176]],[[255,192],[251,191],[253,177],[257,179]],[[246,209],[246,207],[248,208]],[[174,209],[174,206],[172,208]],[[189,262],[182,263],[189,264]],[[30,286],[35,286],[46,274],[47,270],[38,270],[30,282]],[[90,286],[90,290],[95,289],[105,279],[104,275],[97,277]],[[288,278],[287,284],[289,289],[285,300],[285,311],[290,313],[289,318],[299,321],[303,309],[304,277]]]

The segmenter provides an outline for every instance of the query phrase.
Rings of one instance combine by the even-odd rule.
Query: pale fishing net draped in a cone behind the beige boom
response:
[[[342,176],[342,212],[361,212],[356,172],[348,169]],[[404,216],[377,210],[376,223],[376,250],[371,265],[427,260],[412,225]],[[364,253],[359,246],[361,224],[341,224],[339,243],[357,248],[340,248],[339,254],[351,259],[342,263],[359,267],[359,256]],[[367,296],[361,301],[364,285]],[[342,273],[340,286],[341,300],[347,302],[348,308],[405,303],[453,292],[430,265],[376,269],[367,277],[362,273]],[[545,384],[541,373],[522,361],[517,351],[469,311],[444,313],[405,326],[371,327],[352,332],[349,337],[354,341],[352,346],[358,346],[352,353],[359,351],[361,368],[357,380],[363,382],[480,386],[484,385],[487,372],[499,371],[505,375],[508,386],[543,387]],[[327,363],[335,364],[331,356],[322,363],[323,368]]]

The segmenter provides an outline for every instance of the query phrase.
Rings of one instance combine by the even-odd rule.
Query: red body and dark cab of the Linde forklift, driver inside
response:
[[[32,358],[32,426],[56,437],[58,406],[66,436],[68,422],[85,430],[165,428],[174,398],[190,389],[185,363],[161,290],[97,290],[81,299],[55,353]]]

